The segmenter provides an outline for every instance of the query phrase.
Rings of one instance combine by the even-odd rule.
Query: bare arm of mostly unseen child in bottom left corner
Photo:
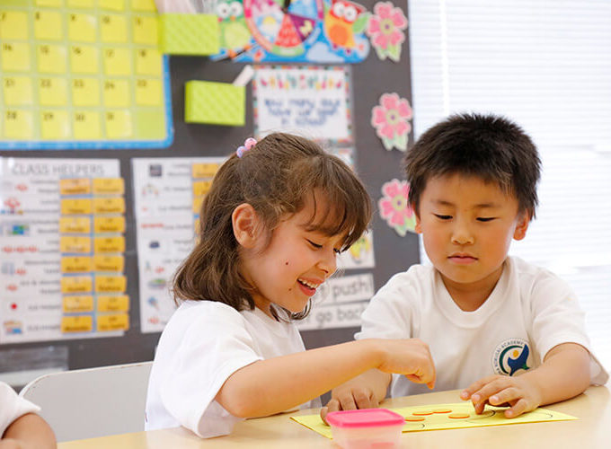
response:
[[[47,421],[35,413],[26,413],[6,427],[0,448],[51,449],[57,447],[55,434]]]

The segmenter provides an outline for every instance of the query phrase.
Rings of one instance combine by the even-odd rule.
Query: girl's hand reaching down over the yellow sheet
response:
[[[414,383],[435,386],[435,364],[429,345],[420,339],[379,339],[385,351],[384,362],[377,367],[384,373],[403,374]]]

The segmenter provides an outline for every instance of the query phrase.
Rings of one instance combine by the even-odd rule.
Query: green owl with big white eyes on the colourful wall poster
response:
[[[251,31],[244,19],[242,0],[218,0],[215,8],[220,29],[220,47],[235,57],[251,45]]]

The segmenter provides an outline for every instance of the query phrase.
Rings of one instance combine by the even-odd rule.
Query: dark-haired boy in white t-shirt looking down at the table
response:
[[[606,383],[571,288],[508,257],[537,204],[541,163],[524,131],[500,117],[453,116],[421,136],[405,163],[416,232],[433,267],[392,277],[355,338],[428,343],[435,390],[468,385],[460,396],[476,413],[486,403],[509,405],[513,418]],[[391,396],[424,392],[404,376],[392,380]],[[389,383],[390,374],[361,374],[333,390],[322,415],[377,407]]]

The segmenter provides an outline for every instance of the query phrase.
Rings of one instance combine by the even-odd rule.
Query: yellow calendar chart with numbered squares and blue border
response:
[[[0,149],[173,140],[153,0],[0,2]]]

